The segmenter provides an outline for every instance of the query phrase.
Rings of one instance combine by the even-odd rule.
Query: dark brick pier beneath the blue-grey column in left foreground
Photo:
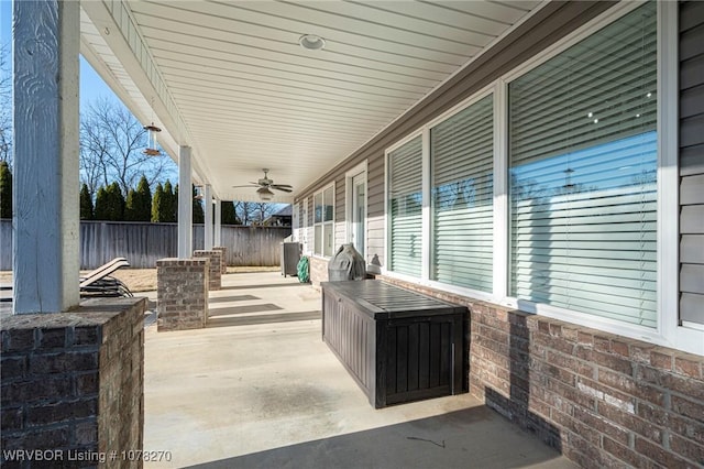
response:
[[[145,308],[145,298],[97,298],[2,318],[2,467],[97,467],[101,455],[142,449]],[[101,467],[142,465],[117,457]]]

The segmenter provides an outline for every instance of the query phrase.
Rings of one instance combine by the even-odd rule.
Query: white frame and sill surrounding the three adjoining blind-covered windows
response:
[[[422,141],[422,274],[420,279],[409,277],[382,269],[391,277],[436,287],[446,292],[488,301],[503,306],[519,308],[546,317],[566,320],[585,326],[635,338],[656,345],[704,356],[704,330],[681,326],[679,318],[679,55],[678,55],[678,4],[658,2],[658,326],[628,325],[623,321],[591,316],[550,305],[536,305],[527,301],[508,296],[509,275],[509,207],[508,207],[508,92],[512,80],[530,72],[556,55],[564,52],[580,41],[595,34],[602,28],[617,21],[623,15],[642,6],[644,1],[624,1],[591,20],[563,40],[548,47],[529,61],[508,72],[491,86],[476,92],[469,99],[433,119],[420,129],[406,135],[385,151],[384,194],[385,194],[385,263],[391,258],[391,217],[389,214],[389,174],[388,155],[408,141],[424,137]],[[468,288],[453,287],[429,281],[430,263],[430,155],[429,130],[471,103],[494,92],[494,290],[491,295]]]

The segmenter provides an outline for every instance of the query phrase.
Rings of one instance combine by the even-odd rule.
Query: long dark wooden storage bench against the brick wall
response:
[[[376,280],[321,286],[322,339],[374,407],[466,392],[466,307]]]

